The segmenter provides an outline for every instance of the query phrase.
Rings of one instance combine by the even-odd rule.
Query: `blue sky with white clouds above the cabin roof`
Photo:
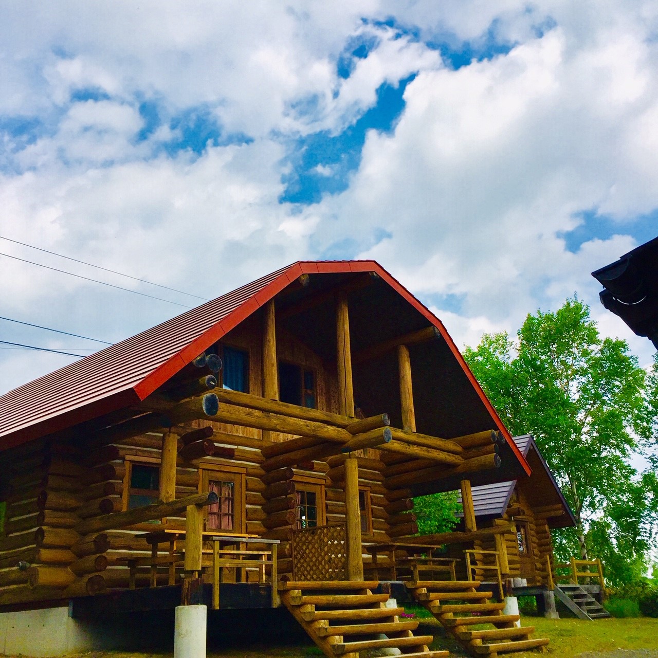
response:
[[[649,362],[590,272],[658,234],[652,3],[243,12],[149,0],[7,14],[0,236],[202,297],[297,259],[374,258],[460,345],[577,292]],[[0,252],[199,301],[7,241]],[[0,268],[0,315],[84,336],[120,340],[181,310],[3,256]],[[0,389],[67,359],[3,349]]]

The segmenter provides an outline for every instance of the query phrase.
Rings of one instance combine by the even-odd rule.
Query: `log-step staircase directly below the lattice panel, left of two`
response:
[[[281,582],[282,603],[328,658],[396,655],[444,658],[448,651],[430,651],[431,635],[415,636],[418,622],[400,620],[403,608],[386,607],[388,594],[372,594],[371,581]],[[377,651],[381,649],[381,652]]]

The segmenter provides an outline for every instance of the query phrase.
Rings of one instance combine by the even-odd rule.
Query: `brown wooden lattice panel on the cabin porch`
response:
[[[293,580],[347,580],[345,524],[293,530]]]

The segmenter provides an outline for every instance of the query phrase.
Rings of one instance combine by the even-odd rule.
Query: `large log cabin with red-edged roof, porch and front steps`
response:
[[[471,487],[531,468],[374,261],[294,263],[16,388],[0,438],[0,631],[44,609],[284,607],[329,658],[447,655],[389,601],[402,583],[473,655],[548,642],[495,588],[423,579],[434,547],[501,532],[478,530]],[[418,536],[413,497],[449,490],[465,530]]]

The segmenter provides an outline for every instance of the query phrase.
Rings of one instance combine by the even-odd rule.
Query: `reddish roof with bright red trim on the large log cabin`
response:
[[[0,449],[136,404],[301,274],[375,272],[441,332],[522,466],[525,459],[443,323],[375,261],[299,261],[0,397]]]

